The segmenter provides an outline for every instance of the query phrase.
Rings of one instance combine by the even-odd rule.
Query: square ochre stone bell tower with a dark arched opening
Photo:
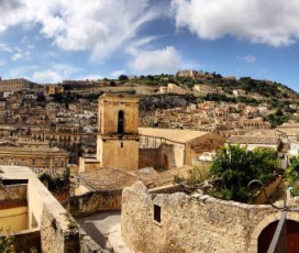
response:
[[[139,168],[139,99],[102,95],[98,100],[97,158],[101,166]]]

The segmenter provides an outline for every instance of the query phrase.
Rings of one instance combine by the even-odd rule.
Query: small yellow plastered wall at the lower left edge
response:
[[[27,207],[0,210],[0,230],[18,232],[27,229]]]

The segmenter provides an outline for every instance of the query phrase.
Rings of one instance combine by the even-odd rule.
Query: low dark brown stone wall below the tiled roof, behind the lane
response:
[[[99,211],[121,210],[122,190],[98,190],[73,196],[69,211],[73,216],[88,216]]]

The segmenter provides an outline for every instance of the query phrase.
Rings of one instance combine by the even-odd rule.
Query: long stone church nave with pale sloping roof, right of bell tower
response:
[[[225,140],[217,133],[177,130],[140,128],[140,164],[147,161],[147,166],[154,166],[157,160],[151,160],[153,151],[163,152],[164,167],[180,167],[193,165],[193,158],[203,152],[215,151],[224,144]],[[165,146],[167,144],[168,146]],[[160,147],[163,146],[163,147]],[[162,148],[162,151],[159,150]],[[151,154],[151,155],[150,155]],[[147,157],[148,156],[148,157]],[[143,167],[143,166],[141,166]]]

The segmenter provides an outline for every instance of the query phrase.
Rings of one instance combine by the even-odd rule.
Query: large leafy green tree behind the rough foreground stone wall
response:
[[[274,150],[247,151],[239,145],[224,146],[217,152],[211,166],[211,175],[220,178],[211,194],[222,199],[247,202],[247,184],[253,179],[273,179],[277,168],[278,157]]]

